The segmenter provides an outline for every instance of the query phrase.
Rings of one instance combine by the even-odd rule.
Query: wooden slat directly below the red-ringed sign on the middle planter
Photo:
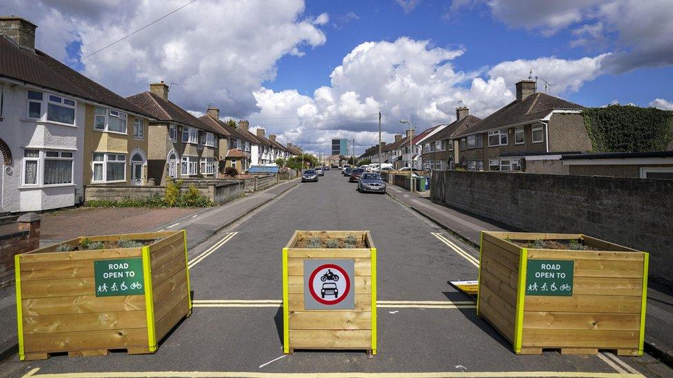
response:
[[[290,329],[372,329],[372,313],[295,312],[290,313]]]

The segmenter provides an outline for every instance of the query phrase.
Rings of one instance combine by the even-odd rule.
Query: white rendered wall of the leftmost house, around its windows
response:
[[[77,101],[75,124],[62,125],[27,118],[28,90],[49,92],[30,85],[17,86],[0,79],[3,94],[0,139],[12,154],[10,165],[2,164],[0,213],[19,213],[70,207],[83,196],[83,140],[85,103]],[[64,97],[72,98],[67,95]],[[76,98],[72,98],[77,100]],[[23,187],[24,149],[72,151],[72,184]]]

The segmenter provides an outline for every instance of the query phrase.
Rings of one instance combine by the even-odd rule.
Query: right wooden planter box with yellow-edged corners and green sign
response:
[[[509,241],[572,239],[599,251],[523,248]],[[560,348],[567,354],[606,349],[642,355],[648,256],[587,235],[484,231],[477,313],[512,342],[515,353]]]

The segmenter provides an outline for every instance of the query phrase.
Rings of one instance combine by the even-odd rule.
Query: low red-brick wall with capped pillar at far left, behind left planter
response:
[[[0,288],[14,281],[14,256],[39,248],[40,222],[40,216],[28,213],[0,227]]]

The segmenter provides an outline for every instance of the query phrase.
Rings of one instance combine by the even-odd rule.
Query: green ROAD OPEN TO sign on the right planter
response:
[[[572,260],[528,260],[526,295],[572,297]]]

